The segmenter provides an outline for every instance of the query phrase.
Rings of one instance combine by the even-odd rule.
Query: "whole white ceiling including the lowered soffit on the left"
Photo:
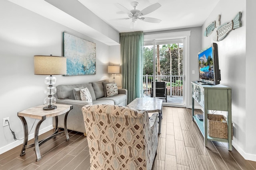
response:
[[[157,18],[160,23],[137,21],[136,27],[130,28],[131,19],[115,5],[119,3],[128,10],[134,9],[134,0],[8,0],[56,21],[75,31],[87,35],[107,45],[118,45],[116,31],[160,31],[185,27],[201,26],[220,0],[137,0],[136,10],[159,3],[160,8],[143,17]],[[92,14],[94,13],[94,14]],[[98,17],[97,17],[98,16]],[[102,22],[105,21],[104,22]]]

